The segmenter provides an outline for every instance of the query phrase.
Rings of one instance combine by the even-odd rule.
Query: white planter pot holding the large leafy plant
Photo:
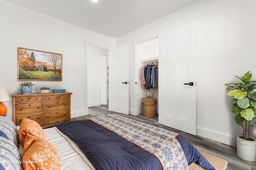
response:
[[[237,136],[236,138],[237,155],[243,160],[247,160],[250,162],[255,161],[256,160],[256,139],[250,137],[251,139],[254,139],[254,141],[246,141],[244,139],[241,139],[239,136]]]

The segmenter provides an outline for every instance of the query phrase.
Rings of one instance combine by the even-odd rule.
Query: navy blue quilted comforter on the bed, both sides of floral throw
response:
[[[97,170],[162,170],[164,168],[155,154],[94,121],[69,121],[59,123],[56,127],[77,143]],[[214,167],[184,136],[178,135],[176,139],[184,151],[188,165],[194,162],[206,170],[214,170]],[[172,169],[178,168],[179,166],[172,167]]]

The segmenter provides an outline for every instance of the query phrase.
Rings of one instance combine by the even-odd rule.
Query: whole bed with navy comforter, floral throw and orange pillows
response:
[[[114,113],[59,123],[47,129],[30,119],[22,120],[18,128],[6,122],[6,117],[0,117],[0,144],[3,146],[13,139],[13,149],[9,150],[17,146],[18,153],[15,150],[11,154],[17,155],[17,161],[4,160],[0,152],[0,169],[42,166],[62,170],[186,170],[188,165],[196,163],[214,170],[184,136]],[[40,147],[44,147],[44,152]]]

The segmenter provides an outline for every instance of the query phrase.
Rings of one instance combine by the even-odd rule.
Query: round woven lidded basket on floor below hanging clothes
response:
[[[144,117],[156,116],[156,98],[143,98],[142,115]]]

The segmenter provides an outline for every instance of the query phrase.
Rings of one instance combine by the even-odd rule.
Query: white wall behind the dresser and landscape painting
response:
[[[0,84],[6,85],[8,94],[20,93],[17,47],[61,53],[62,81],[34,81],[34,92],[42,86],[66,89],[73,93],[71,117],[85,115],[85,41],[110,48],[115,40],[4,0],[0,0],[0,21]],[[4,104],[12,118],[12,98]]]

